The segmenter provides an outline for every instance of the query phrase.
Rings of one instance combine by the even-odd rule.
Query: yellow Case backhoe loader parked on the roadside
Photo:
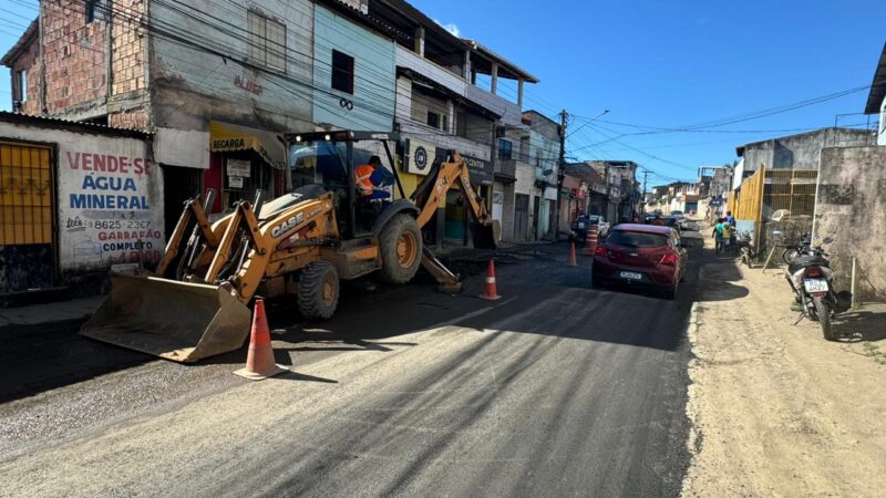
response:
[[[419,266],[442,290],[457,291],[459,277],[424,246],[422,234],[455,185],[474,215],[475,247],[495,247],[497,225],[457,153],[432,165],[408,199],[389,146],[399,143],[396,134],[340,131],[286,139],[297,186],[292,193],[268,203],[258,193],[214,224],[205,211],[213,191],[203,201],[187,201],[156,270],[112,273],[110,295],[81,334],[189,363],[239,349],[249,333],[248,305],[257,295],[295,294],[303,317],[329,319],[340,279],[378,272],[388,282],[404,283]],[[360,148],[367,142],[375,149],[383,146],[399,199],[367,198],[358,190],[354,169],[371,154]]]

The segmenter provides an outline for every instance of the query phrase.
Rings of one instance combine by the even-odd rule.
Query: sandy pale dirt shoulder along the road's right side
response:
[[[854,339],[827,342],[794,326],[781,270],[712,252],[690,326],[683,495],[883,496],[886,307],[847,313],[837,330]]]

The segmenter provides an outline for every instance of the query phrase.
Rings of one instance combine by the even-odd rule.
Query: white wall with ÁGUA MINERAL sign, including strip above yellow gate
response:
[[[55,247],[63,280],[162,257],[163,172],[141,139],[0,123],[0,138],[54,145]],[[124,200],[121,200],[124,199]]]

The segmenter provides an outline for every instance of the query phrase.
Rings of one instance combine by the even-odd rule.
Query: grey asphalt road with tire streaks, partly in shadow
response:
[[[56,331],[61,366],[3,384],[0,495],[678,495],[697,264],[666,301],[591,290],[566,251],[499,255],[499,301],[475,276],[354,284],[324,323],[277,303],[293,372],[260,383],[230,374],[243,352],[182,366]]]

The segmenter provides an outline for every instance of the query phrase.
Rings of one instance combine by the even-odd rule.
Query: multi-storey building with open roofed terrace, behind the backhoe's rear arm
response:
[[[427,174],[434,162],[457,151],[467,162],[471,178],[487,199],[493,218],[502,226],[502,238],[515,232],[515,184],[518,139],[513,129],[522,128],[521,106],[525,83],[537,83],[532,74],[496,54],[487,46],[460,39],[422,12],[401,1],[395,22],[400,32],[413,33],[396,39],[395,129],[403,139],[401,179],[408,193]],[[516,102],[498,92],[501,79],[516,82]],[[478,80],[488,81],[488,89]],[[466,240],[467,216],[461,194],[453,189],[445,205],[437,208],[436,243]]]

